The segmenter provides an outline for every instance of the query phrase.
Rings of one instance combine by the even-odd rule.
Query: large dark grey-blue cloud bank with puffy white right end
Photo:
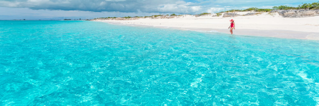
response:
[[[1,1],[1,7],[30,8],[33,10],[79,10],[119,12],[195,13],[201,6],[182,0],[11,0]]]

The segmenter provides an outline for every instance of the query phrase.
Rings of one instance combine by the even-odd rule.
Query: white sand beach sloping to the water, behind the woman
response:
[[[243,15],[248,12],[236,12]],[[319,16],[284,18],[278,13],[263,12],[253,16],[226,17],[210,14],[196,17],[183,15],[177,18],[141,18],[137,20],[96,20],[125,25],[148,25],[181,30],[229,33],[230,19],[235,21],[235,35],[265,36],[288,39],[319,40]]]

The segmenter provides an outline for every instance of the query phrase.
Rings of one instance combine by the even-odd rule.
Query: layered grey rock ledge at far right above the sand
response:
[[[319,16],[319,10],[272,10],[270,12],[277,12],[279,15],[286,18]]]

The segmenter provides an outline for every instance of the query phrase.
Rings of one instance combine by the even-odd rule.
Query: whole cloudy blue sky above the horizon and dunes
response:
[[[92,19],[298,6],[316,0],[0,0],[0,20]]]

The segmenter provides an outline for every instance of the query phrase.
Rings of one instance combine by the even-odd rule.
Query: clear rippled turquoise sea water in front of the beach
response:
[[[319,105],[319,41],[0,21],[0,105]]]

